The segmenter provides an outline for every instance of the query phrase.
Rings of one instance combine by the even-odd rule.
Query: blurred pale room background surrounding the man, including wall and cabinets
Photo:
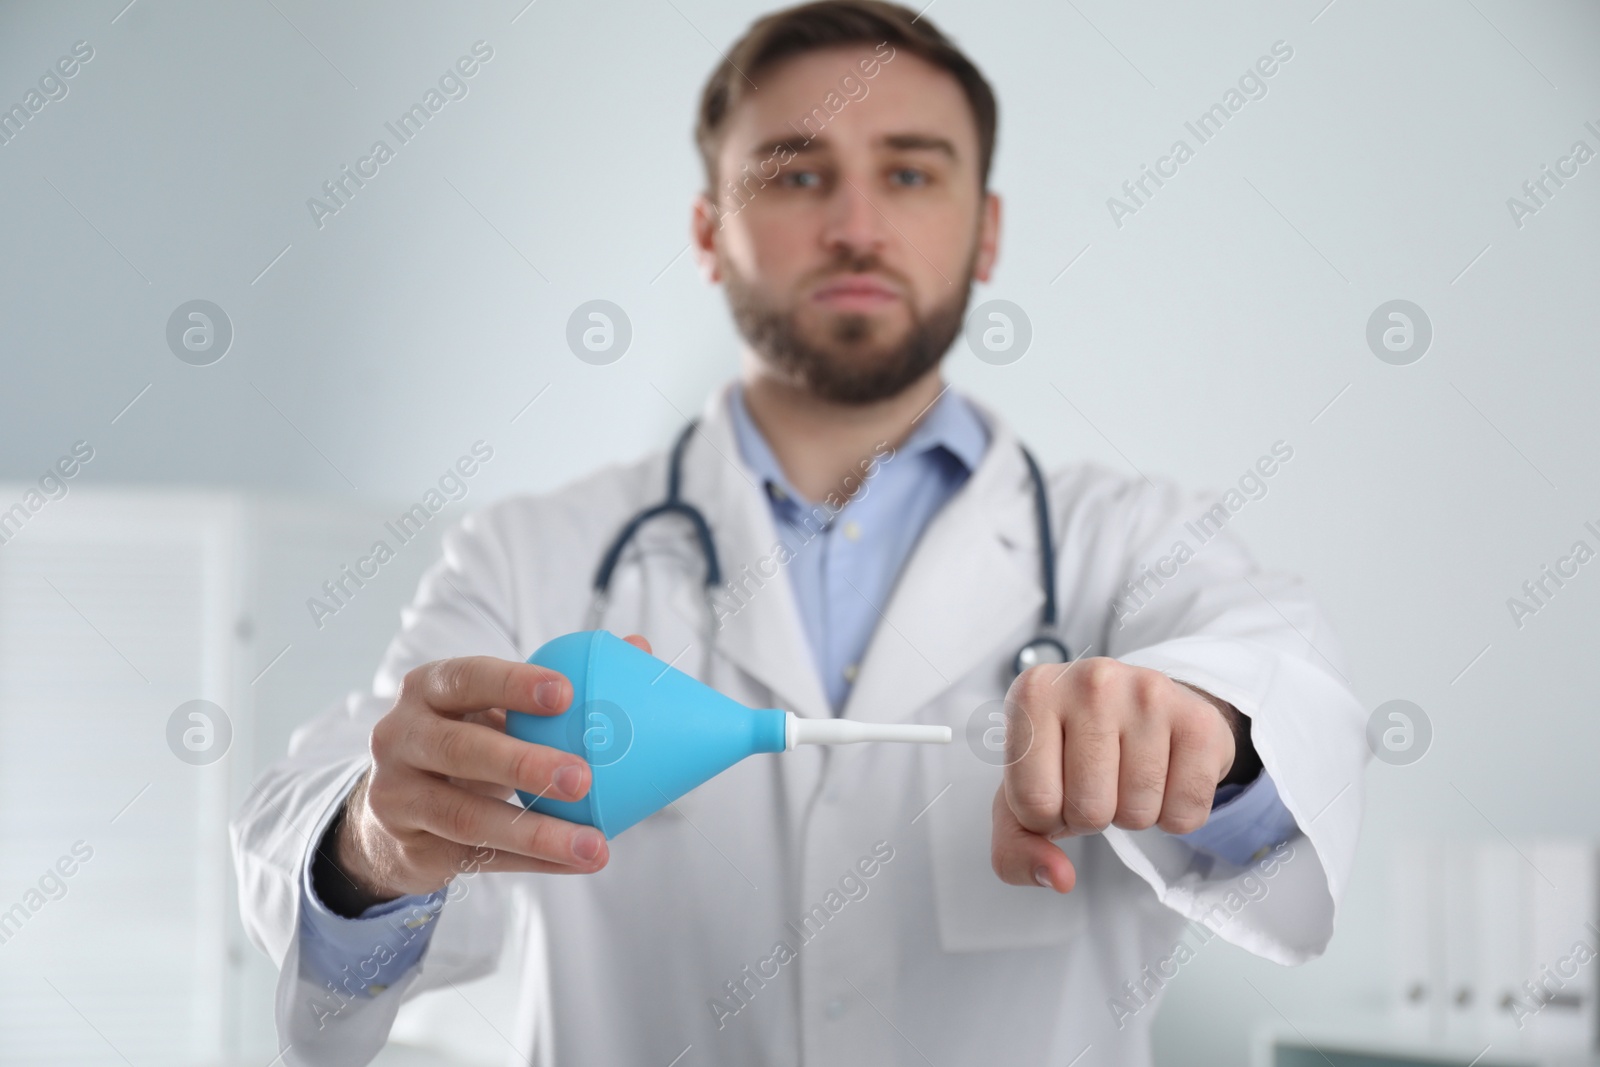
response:
[[[958,341],[949,378],[1051,464],[1221,490],[1290,443],[1237,530],[1307,576],[1384,709],[1326,957],[1213,942],[1166,985],[1158,1062],[1541,1056],[1490,971],[1550,961],[1539,886],[1594,913],[1600,6],[930,8],[1000,98],[973,302],[1032,334],[998,362]],[[0,6],[0,1062],[275,1054],[227,816],[371,681],[446,523],[661,448],[734,373],[688,254],[690,131],[765,10]],[[1262,56],[1202,142],[1186,123]],[[378,139],[394,157],[315,210]],[[1176,176],[1125,192],[1178,139]],[[595,299],[630,325],[606,365],[566,341]],[[309,606],[478,442],[459,499]],[[1539,1003],[1571,1021],[1552,1041],[1592,1048],[1597,968]],[[419,998],[384,1061],[507,1062],[520,995]]]

